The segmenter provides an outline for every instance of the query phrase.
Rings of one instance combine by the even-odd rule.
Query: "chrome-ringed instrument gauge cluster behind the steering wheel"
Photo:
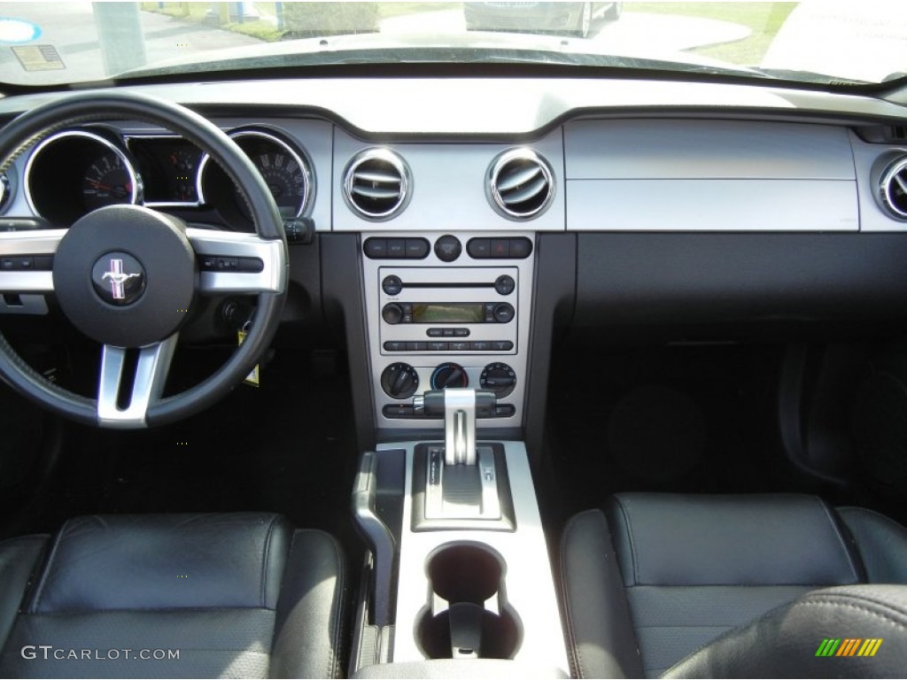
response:
[[[303,215],[314,193],[306,153],[270,129],[242,128],[229,136],[261,173],[280,214],[285,219]],[[184,219],[194,214],[200,221],[254,229],[246,200],[219,164],[191,141],[166,131],[130,134],[86,126],[56,132],[31,151],[24,193],[35,215],[59,227],[104,206],[132,203],[175,209]]]

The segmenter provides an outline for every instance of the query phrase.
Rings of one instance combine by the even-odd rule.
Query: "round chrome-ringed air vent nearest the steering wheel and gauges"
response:
[[[412,181],[405,161],[390,149],[366,149],[346,166],[344,199],[366,219],[391,219],[406,207]]]

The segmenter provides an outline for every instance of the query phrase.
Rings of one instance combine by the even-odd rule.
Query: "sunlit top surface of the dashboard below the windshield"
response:
[[[896,121],[904,107],[863,94],[771,86],[600,78],[316,78],[133,85],[190,108],[306,113],[356,136],[533,137],[583,115],[688,113]],[[101,92],[101,91],[99,91]],[[66,92],[0,100],[15,115]]]

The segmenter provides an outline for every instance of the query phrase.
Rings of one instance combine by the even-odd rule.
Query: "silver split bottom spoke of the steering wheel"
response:
[[[147,425],[149,408],[161,399],[170,373],[177,335],[141,349],[134,372],[128,370],[131,350],[103,345],[98,385],[98,423],[134,429]]]

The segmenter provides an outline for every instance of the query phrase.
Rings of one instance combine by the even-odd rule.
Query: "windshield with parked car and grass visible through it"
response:
[[[883,83],[907,75],[907,3],[0,3],[0,83],[383,62]]]

